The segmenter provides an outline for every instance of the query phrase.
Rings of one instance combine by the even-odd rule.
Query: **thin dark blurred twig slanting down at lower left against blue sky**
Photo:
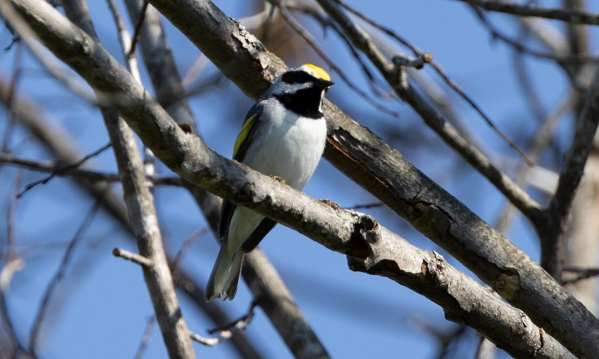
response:
[[[62,280],[63,276],[66,273],[66,268],[68,267],[69,260],[71,260],[71,256],[75,249],[75,245],[77,245],[77,243],[83,237],[83,233],[92,223],[93,217],[95,217],[96,213],[98,212],[99,204],[100,203],[96,201],[95,203],[93,203],[92,208],[90,208],[87,212],[85,218],[83,219],[83,222],[81,222],[81,225],[75,232],[75,235],[71,239],[71,242],[69,242],[68,247],[66,247],[65,254],[62,257],[62,261],[60,261],[58,270],[56,270],[55,275],[52,277],[48,286],[46,287],[46,291],[44,292],[44,296],[41,299],[37,315],[35,316],[34,325],[31,328],[31,333],[29,334],[29,351],[34,354],[37,351],[38,336],[40,334],[40,328],[44,321],[44,315],[46,315],[50,299],[52,298],[56,290],[56,287],[58,287],[59,282]]]

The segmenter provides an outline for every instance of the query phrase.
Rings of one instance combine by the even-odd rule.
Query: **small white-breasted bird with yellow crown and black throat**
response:
[[[326,122],[322,99],[331,82],[311,64],[276,77],[250,108],[235,141],[233,159],[302,190],[322,156]],[[277,224],[251,209],[223,201],[220,252],[206,286],[206,300],[233,299],[244,255]]]

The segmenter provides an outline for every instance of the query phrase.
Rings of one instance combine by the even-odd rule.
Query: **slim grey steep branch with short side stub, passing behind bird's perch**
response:
[[[92,23],[85,20],[86,16],[81,16],[89,14],[83,1],[64,1],[63,7],[67,16],[77,22],[92,39],[97,39]],[[133,132],[114,109],[101,108],[101,111],[119,168],[123,197],[137,247],[140,254],[152,263],[150,267],[143,267],[144,279],[168,354],[171,359],[194,359],[189,331],[181,315],[167,256],[162,247],[154,198],[146,185],[143,162]]]

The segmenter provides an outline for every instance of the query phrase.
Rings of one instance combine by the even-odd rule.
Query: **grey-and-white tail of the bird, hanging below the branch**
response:
[[[235,293],[237,293],[241,264],[243,264],[245,254],[241,248],[231,253],[225,247],[223,245],[220,248],[219,256],[216,258],[216,263],[214,263],[214,268],[206,285],[207,302],[218,297],[223,300],[233,299]]]

